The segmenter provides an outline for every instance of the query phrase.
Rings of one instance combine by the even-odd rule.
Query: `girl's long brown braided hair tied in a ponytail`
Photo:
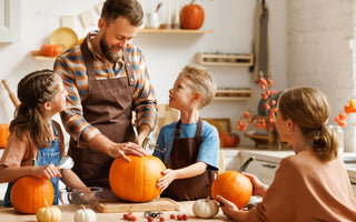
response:
[[[10,132],[22,138],[29,131],[32,142],[44,148],[50,141],[49,125],[43,120],[40,108],[44,102],[52,101],[59,90],[56,80],[60,75],[52,70],[40,70],[27,74],[18,83],[20,104],[14,111],[10,123]]]

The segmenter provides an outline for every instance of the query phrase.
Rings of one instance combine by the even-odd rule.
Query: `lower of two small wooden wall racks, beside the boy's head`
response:
[[[251,98],[251,88],[230,88],[218,89],[214,100],[249,100]]]

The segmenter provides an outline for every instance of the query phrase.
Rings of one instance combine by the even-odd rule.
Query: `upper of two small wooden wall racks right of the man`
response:
[[[254,54],[214,54],[206,52],[198,52],[196,56],[197,63],[204,65],[245,65],[250,67],[254,64]]]

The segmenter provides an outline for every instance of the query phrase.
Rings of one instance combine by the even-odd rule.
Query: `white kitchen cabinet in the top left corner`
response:
[[[20,0],[0,0],[0,42],[14,42],[20,39]]]

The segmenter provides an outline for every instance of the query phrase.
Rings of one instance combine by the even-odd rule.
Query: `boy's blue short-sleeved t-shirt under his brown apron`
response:
[[[166,151],[159,152],[158,150],[155,150],[154,155],[162,160],[164,163],[167,162],[174,144],[176,125],[177,121],[162,127],[157,139],[157,149],[161,151],[166,149]],[[181,139],[194,138],[196,135],[196,131],[197,123],[180,124]],[[196,161],[207,163],[207,170],[219,170],[219,133],[214,125],[204,120],[201,127],[201,140],[202,142]]]

